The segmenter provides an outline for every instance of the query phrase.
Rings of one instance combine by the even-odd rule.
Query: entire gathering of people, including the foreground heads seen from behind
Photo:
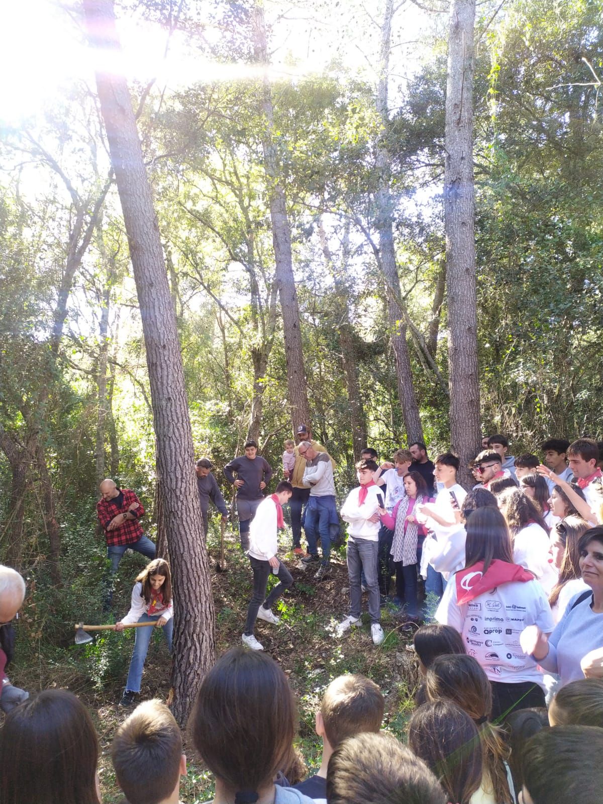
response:
[[[203,679],[188,727],[215,777],[215,804],[598,802],[603,494],[597,442],[546,441],[541,463],[535,455],[508,457],[507,440],[490,437],[471,467],[476,483],[469,491],[457,483],[453,453],[432,463],[425,445],[414,444],[396,451],[391,463],[379,463],[375,450],[366,449],[356,465],[359,485],[338,508],[333,461],[306,425],[298,431],[297,445],[285,444],[286,479],[273,494],[264,494],[273,473],[254,444],[224,470],[236,486],[252,597],[243,644]],[[203,458],[196,468],[205,521],[210,500],[227,518],[211,462]],[[154,628],[163,630],[171,650],[170,566],[155,558],[137,495],[109,479],[100,491],[97,514],[113,575],[128,548],[150,559],[135,580],[128,613],[114,626],[136,626],[121,699],[133,706]],[[384,607],[394,621],[415,624],[412,651],[420,671],[407,745],[382,731],[385,702],[374,682],[359,675],[334,679],[316,712],[322,763],[310,778],[295,748],[289,681],[254,634],[257,620],[268,624],[262,627],[279,625],[273,605],[293,584],[278,557],[287,504],[297,572],[314,571],[314,564],[317,581],[332,572],[339,517],[347,523],[350,608],[334,636],[361,625],[366,593],[375,645],[384,640]],[[277,582],[266,597],[271,573]],[[11,623],[25,593],[18,572],[0,566],[0,706],[6,712],[0,804],[98,804],[98,740],[84,705],[57,689],[30,697],[6,677]],[[111,600],[109,585],[107,605]],[[433,622],[423,624],[431,603]],[[395,718],[396,702],[390,709]],[[178,802],[186,774],[183,735],[158,701],[140,704],[121,724],[111,757],[125,802]]]

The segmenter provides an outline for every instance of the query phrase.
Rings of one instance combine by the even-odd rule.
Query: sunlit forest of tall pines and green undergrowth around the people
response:
[[[72,646],[73,623],[104,617],[103,478],[136,491],[198,623],[176,617],[171,682],[152,656],[150,691],[171,684],[183,723],[249,584],[236,523],[215,573],[194,459],[230,506],[244,441],[278,472],[302,422],[338,499],[365,445],[452,447],[466,470],[482,434],[514,454],[603,438],[600,0],[35,0],[2,17],[0,560],[27,580],[21,686],[116,717],[127,638]],[[143,564],[122,562],[116,605]],[[340,587],[283,603],[274,650],[308,711],[316,667],[400,682],[398,634],[379,658],[313,654]],[[203,801],[194,779],[183,800]]]

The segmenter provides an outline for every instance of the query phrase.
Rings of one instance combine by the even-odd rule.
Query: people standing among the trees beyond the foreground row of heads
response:
[[[517,458],[507,454],[503,435],[485,439],[483,446],[472,461],[476,482],[469,491],[457,482],[460,465],[453,453],[432,462],[425,445],[416,443],[379,463],[367,448],[356,465],[359,485],[338,508],[334,461],[307,425],[297,428],[297,445],[285,441],[286,479],[273,494],[265,495],[273,470],[248,442],[244,455],[224,467],[236,489],[240,543],[252,571],[244,645],[263,650],[257,623],[279,625],[273,607],[293,585],[278,557],[283,507],[289,505],[293,560],[304,572],[315,566],[317,582],[331,575],[331,546],[342,541],[340,518],[347,523],[349,609],[334,624],[336,637],[362,626],[364,595],[377,646],[385,638],[384,608],[396,626],[419,626],[426,619],[452,626],[486,673],[495,719],[519,706],[544,707],[557,689],[597,672],[603,663],[599,445],[589,438],[572,444],[554,438],[544,442],[540,456]],[[212,468],[207,458],[197,462],[206,522],[210,500],[228,518]],[[154,559],[136,494],[109,479],[100,490],[97,514],[112,572],[127,548],[153,559],[137,576],[129,612],[115,628],[161,627],[171,648],[169,564]],[[267,595],[271,574],[276,580]],[[132,705],[140,692],[151,634],[151,627],[136,629],[122,705]]]

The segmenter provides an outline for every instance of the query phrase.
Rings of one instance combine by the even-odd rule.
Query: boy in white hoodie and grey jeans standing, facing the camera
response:
[[[362,605],[362,573],[368,589],[368,613],[371,617],[371,637],[375,645],[384,641],[379,605],[377,560],[379,552],[379,507],[383,507],[383,492],[373,480],[375,461],[359,461],[356,476],[359,488],[351,490],[341,508],[347,528],[347,574],[350,578],[350,614],[340,622],[336,634],[341,637],[360,623]],[[379,497],[381,498],[379,500]]]

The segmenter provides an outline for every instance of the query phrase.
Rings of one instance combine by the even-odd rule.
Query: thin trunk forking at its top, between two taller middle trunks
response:
[[[347,274],[347,260],[349,257],[349,233],[347,224],[343,235],[342,264],[339,268],[334,265],[333,255],[326,239],[322,219],[318,220],[318,236],[325,256],[326,270],[332,275],[335,293],[337,294],[338,334],[341,347],[343,373],[346,376],[347,400],[350,404],[350,425],[352,436],[352,452],[354,460],[359,461],[360,455],[367,445],[367,419],[364,415],[360,384],[358,380],[358,362],[356,360],[356,347],[354,343],[354,328],[350,322],[348,310],[348,288],[345,280]]]

